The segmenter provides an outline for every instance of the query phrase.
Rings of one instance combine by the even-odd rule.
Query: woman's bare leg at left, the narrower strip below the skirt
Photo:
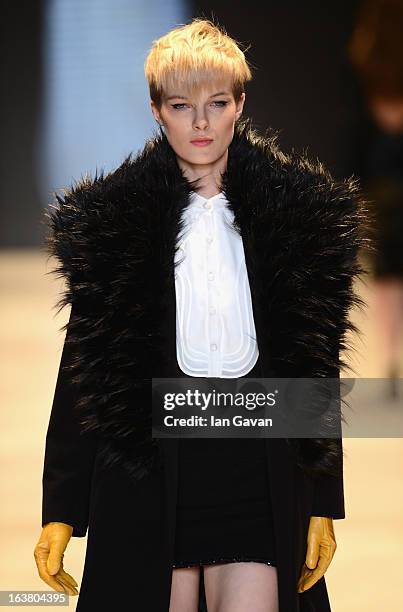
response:
[[[197,612],[199,607],[200,566],[172,570],[169,612]]]

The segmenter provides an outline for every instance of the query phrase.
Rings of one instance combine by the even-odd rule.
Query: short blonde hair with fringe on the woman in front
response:
[[[144,72],[150,98],[160,108],[164,92],[184,84],[191,92],[226,73],[236,101],[252,79],[239,43],[208,19],[195,17],[153,41]]]

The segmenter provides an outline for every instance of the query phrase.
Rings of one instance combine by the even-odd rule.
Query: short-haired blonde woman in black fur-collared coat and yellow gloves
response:
[[[155,41],[145,74],[159,134],[48,214],[71,313],[39,573],[77,594],[61,560],[88,527],[79,612],[328,611],[341,439],[153,438],[151,379],[338,377],[357,183],[241,117],[251,71],[211,21]]]

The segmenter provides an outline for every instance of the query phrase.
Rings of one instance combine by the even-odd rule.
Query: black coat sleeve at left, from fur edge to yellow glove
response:
[[[67,324],[56,389],[46,434],[42,477],[42,526],[50,521],[73,527],[72,536],[84,537],[88,527],[91,477],[97,451],[97,437],[82,433],[73,406],[77,391],[67,368],[72,356]]]

